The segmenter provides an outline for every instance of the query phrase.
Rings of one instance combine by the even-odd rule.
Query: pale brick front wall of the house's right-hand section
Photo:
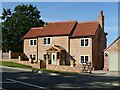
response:
[[[80,55],[88,55],[89,61],[92,61],[92,39],[88,38],[89,46],[81,47],[80,38],[71,38],[70,39],[70,55],[71,59],[74,59],[75,65],[80,66]],[[88,61],[88,62],[89,62]]]

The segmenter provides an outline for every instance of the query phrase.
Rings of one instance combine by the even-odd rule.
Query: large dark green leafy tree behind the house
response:
[[[31,4],[18,5],[14,11],[3,9],[2,23],[2,49],[22,52],[23,36],[31,27],[44,26],[40,19],[40,11]]]

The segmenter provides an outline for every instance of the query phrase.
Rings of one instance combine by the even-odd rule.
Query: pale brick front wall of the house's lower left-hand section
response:
[[[23,51],[28,58],[30,58],[31,54],[35,54],[36,59],[37,59],[37,46],[31,46],[29,44],[29,40],[30,39],[24,39],[24,50]]]

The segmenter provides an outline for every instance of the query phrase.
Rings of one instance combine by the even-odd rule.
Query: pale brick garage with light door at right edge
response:
[[[104,70],[120,71],[120,36],[104,50]]]

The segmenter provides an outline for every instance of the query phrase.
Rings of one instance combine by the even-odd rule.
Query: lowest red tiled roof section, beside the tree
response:
[[[35,38],[43,30],[43,27],[31,28],[23,38]]]

